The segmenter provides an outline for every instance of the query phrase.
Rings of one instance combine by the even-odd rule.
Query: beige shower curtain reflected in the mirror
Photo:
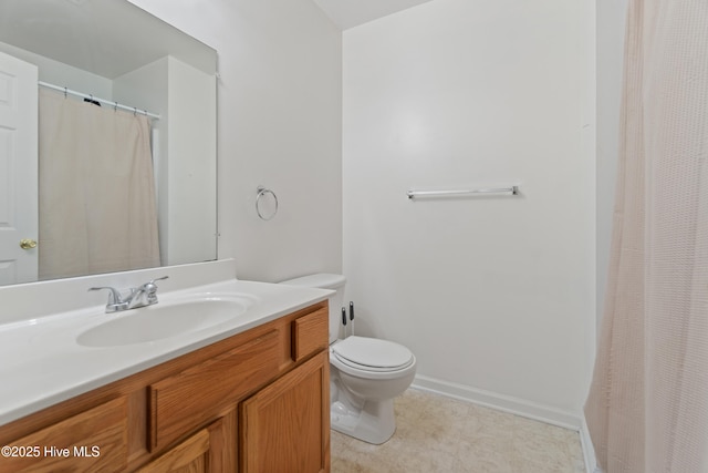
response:
[[[40,279],[159,266],[149,122],[40,90]]]

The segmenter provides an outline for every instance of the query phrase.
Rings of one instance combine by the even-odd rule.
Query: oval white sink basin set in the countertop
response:
[[[159,302],[116,312],[115,318],[84,331],[76,341],[85,347],[117,347],[162,340],[232,320],[253,304],[252,298],[231,295]]]

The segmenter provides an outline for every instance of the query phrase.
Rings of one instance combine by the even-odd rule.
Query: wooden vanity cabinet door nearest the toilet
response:
[[[243,401],[240,415],[242,472],[329,472],[327,351]]]

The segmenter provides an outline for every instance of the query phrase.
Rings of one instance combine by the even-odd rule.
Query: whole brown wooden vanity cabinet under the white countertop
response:
[[[327,341],[324,301],[64,401],[0,426],[41,449],[0,471],[329,472]]]

